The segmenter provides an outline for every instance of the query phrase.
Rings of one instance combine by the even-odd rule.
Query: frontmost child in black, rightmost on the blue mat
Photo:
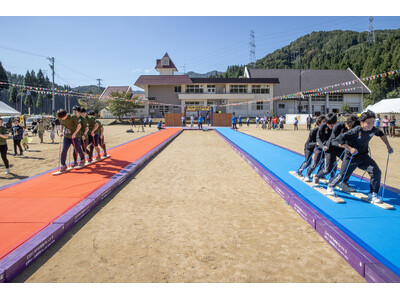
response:
[[[368,144],[374,135],[379,136],[385,143],[389,154],[393,153],[386,135],[377,127],[374,127],[375,113],[367,110],[360,117],[361,125],[340,134],[332,141],[333,145],[345,148],[345,156],[340,173],[328,184],[327,195],[334,195],[334,187],[341,181],[346,182],[356,168],[365,170],[370,175],[370,191],[368,199],[372,203],[382,203],[378,198],[381,184],[381,170],[377,163],[368,155]]]

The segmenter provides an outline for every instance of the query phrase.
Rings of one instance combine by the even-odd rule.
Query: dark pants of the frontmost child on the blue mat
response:
[[[346,152],[344,155],[340,173],[336,175],[333,181],[329,184],[330,187],[335,187],[342,180],[347,182],[356,168],[367,171],[371,177],[369,189],[371,193],[378,193],[381,185],[381,170],[377,163],[367,154],[353,156],[350,163],[351,154]],[[346,171],[347,170],[347,171]],[[344,179],[343,179],[344,178]]]

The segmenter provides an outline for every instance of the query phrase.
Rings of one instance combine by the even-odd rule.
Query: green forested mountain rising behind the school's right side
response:
[[[350,68],[360,78],[398,70],[400,29],[375,30],[375,43],[367,42],[367,35],[367,32],[341,30],[312,32],[257,60],[254,67],[297,69],[300,50],[302,69]],[[238,77],[243,75],[244,67],[229,66],[217,77]],[[367,103],[400,97],[400,74],[365,83],[372,90],[371,96],[366,97]]]

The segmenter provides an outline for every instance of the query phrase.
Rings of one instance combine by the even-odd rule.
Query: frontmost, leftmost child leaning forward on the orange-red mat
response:
[[[61,151],[61,168],[59,172],[66,172],[67,166],[65,161],[71,144],[74,147],[74,152],[78,152],[81,158],[78,166],[83,167],[85,165],[85,155],[83,154],[81,146],[81,119],[77,118],[75,115],[71,116],[67,114],[67,111],[62,108],[57,111],[57,117],[60,120],[61,131],[65,129],[64,133],[60,134],[60,136],[64,136],[64,140]],[[76,161],[73,162],[74,165],[76,165],[76,163]]]

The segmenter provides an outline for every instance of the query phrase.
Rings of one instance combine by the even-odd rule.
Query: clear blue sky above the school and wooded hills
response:
[[[0,16],[0,61],[7,71],[41,68],[55,57],[58,84],[130,85],[157,74],[156,59],[168,52],[179,72],[225,71],[249,62],[250,30],[256,58],[320,30],[368,30],[368,16]],[[400,17],[375,17],[375,30],[400,28]],[[134,89],[136,87],[133,86]]]

